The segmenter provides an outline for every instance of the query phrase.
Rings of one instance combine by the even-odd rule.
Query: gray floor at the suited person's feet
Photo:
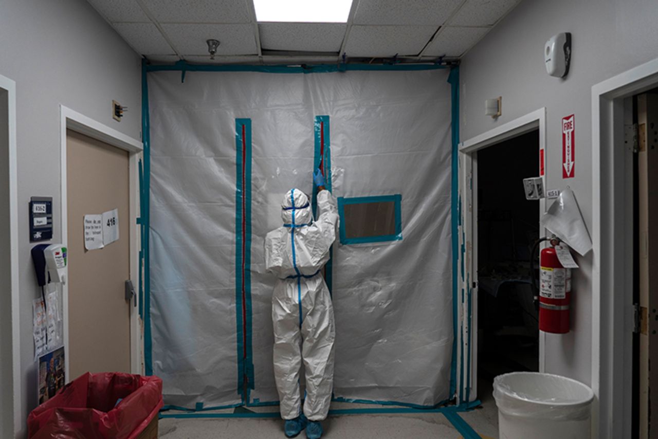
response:
[[[481,393],[482,408],[460,416],[483,438],[498,437],[498,419],[490,390]],[[333,407],[333,406],[332,406]],[[355,407],[355,405],[349,405]],[[336,407],[343,408],[343,407]],[[326,439],[458,439],[461,434],[441,413],[405,415],[344,415],[322,423]],[[285,438],[280,419],[161,419],[160,437],[164,439],[269,439]],[[298,436],[305,439],[305,434]]]

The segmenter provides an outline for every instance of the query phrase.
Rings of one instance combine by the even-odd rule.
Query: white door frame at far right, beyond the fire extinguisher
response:
[[[658,59],[592,86],[592,437],[632,426],[633,168],[624,99],[658,86]],[[615,145],[618,145],[615,148]]]

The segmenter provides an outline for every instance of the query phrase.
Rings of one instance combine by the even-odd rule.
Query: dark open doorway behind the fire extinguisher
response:
[[[530,274],[539,209],[522,180],[539,174],[540,132],[532,130],[476,152],[478,395],[493,378],[539,371],[538,311]],[[535,265],[537,267],[537,264]]]

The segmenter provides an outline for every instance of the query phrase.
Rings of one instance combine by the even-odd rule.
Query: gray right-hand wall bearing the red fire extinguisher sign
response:
[[[461,65],[461,140],[468,140],[546,107],[548,188],[569,185],[592,230],[592,109],[594,84],[658,57],[655,0],[524,0]],[[567,78],[548,76],[544,43],[572,33]],[[503,97],[503,115],[484,115],[484,99]],[[575,114],[575,178],[563,180],[561,118]],[[520,182],[519,182],[520,184]],[[592,358],[592,253],[578,257],[572,332],[548,335],[546,370],[590,384]]]

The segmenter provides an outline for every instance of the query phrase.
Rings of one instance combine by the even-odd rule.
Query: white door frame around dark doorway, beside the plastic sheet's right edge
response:
[[[495,147],[496,144],[515,138],[527,132],[539,130],[539,149],[540,151],[546,150],[546,107],[542,107],[536,111],[532,111],[524,116],[520,116],[510,122],[501,124],[492,130],[474,136],[465,142],[459,144],[459,195],[463,200],[463,242],[462,247],[465,249],[464,254],[461,256],[465,259],[464,266],[466,275],[461,279],[461,288],[463,291],[471,291],[471,315],[470,328],[464,328],[464,334],[470,334],[470,340],[463,340],[463,344],[474,346],[474,349],[467,349],[470,352],[470,401],[477,398],[477,384],[478,384],[478,206],[477,206],[477,160],[475,153],[480,149],[486,147]],[[541,153],[540,153],[541,154]],[[541,155],[540,155],[541,157]],[[544,183],[545,175],[547,174],[548,167],[546,166],[546,159],[544,157]],[[519,182],[520,187],[521,182]],[[543,198],[539,203],[540,215],[545,212],[546,199]],[[470,276],[469,276],[470,275]],[[474,284],[472,283],[474,282]],[[472,288],[472,285],[475,285]],[[464,309],[461,315],[468,316],[468,309]],[[462,322],[464,326],[464,322]],[[546,335],[544,332],[539,333],[539,370],[544,372],[545,369],[545,344]],[[466,361],[466,360],[465,360]],[[466,385],[466,383],[463,383]],[[465,402],[470,402],[465,401]]]

